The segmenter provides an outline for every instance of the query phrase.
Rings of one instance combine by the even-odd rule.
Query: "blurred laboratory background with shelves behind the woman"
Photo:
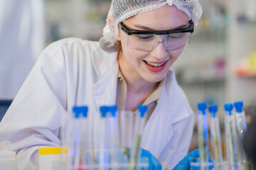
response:
[[[110,2],[0,0],[0,100],[16,96],[51,42],[68,37],[99,40]],[[256,113],[256,1],[201,0],[201,4],[203,16],[173,69],[195,113],[197,103],[219,106],[224,132],[224,103],[243,101],[248,124]],[[195,123],[191,149],[197,147]]]

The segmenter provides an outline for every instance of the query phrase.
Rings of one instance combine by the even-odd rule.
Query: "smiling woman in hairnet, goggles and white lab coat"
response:
[[[193,111],[170,68],[201,13],[198,0],[112,0],[100,42],[68,38],[46,47],[0,124],[19,169],[36,169],[38,148],[61,144],[60,119],[73,106],[114,104],[148,106],[141,146],[173,169],[188,153]]]

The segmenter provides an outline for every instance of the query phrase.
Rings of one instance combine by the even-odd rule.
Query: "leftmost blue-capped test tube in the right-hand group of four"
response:
[[[208,169],[208,129],[206,103],[198,103],[198,145],[200,149],[201,169]]]

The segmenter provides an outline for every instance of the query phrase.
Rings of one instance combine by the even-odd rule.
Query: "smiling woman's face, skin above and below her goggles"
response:
[[[174,30],[188,26],[188,16],[174,5],[165,5],[133,16],[122,23],[134,30]],[[124,77],[130,80],[161,81],[183,52],[183,48],[167,51],[163,42],[159,42],[151,52],[134,50],[127,46],[125,36],[127,37],[127,34],[119,28],[117,40],[121,41],[122,45],[118,57],[119,67]]]

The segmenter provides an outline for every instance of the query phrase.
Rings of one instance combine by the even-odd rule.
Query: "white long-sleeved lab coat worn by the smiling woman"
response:
[[[49,45],[0,123],[0,142],[12,142],[18,167],[36,169],[38,148],[60,145],[61,118],[75,105],[90,107],[97,128],[92,110],[115,104],[118,69],[117,52],[102,50],[98,42],[68,38]],[[186,156],[192,131],[193,112],[170,69],[142,148],[172,169]]]

